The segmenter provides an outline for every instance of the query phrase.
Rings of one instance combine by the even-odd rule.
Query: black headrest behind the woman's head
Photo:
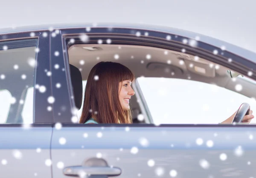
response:
[[[70,77],[73,87],[74,100],[77,109],[81,108],[83,98],[82,75],[78,68],[70,64]]]

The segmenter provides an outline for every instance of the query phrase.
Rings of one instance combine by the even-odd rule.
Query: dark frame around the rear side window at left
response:
[[[39,67],[35,68],[34,72],[34,99],[33,99],[33,123],[52,123],[53,116],[52,111],[47,111],[47,106],[49,103],[47,98],[52,95],[51,89],[51,78],[46,75],[45,70],[49,71],[50,57],[49,57],[49,30],[37,30],[37,31],[29,31],[29,32],[15,32],[15,33],[7,33],[0,34],[0,42],[2,41],[10,41],[10,40],[26,40],[26,39],[37,39],[37,48],[40,50],[39,52],[35,52],[36,61]],[[39,92],[36,89],[35,85],[44,85],[47,90],[44,93]],[[12,123],[12,121],[8,121],[9,123],[0,124],[1,126],[5,125],[17,125],[23,123]]]

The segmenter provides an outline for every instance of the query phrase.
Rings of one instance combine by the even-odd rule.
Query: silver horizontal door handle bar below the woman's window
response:
[[[72,166],[63,169],[64,175],[73,177],[84,177],[85,175],[105,175],[117,176],[122,170],[118,167],[86,167],[86,166]]]

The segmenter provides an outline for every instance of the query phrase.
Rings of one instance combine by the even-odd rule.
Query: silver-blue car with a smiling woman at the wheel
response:
[[[79,124],[99,61],[134,72],[133,124]],[[256,122],[218,123],[256,108],[255,70],[253,52],[167,27],[0,29],[0,177],[253,178]]]

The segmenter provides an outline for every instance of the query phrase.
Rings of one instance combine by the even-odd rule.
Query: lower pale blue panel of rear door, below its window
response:
[[[52,127],[0,125],[0,177],[51,178]],[[47,162],[48,163],[48,162]]]

